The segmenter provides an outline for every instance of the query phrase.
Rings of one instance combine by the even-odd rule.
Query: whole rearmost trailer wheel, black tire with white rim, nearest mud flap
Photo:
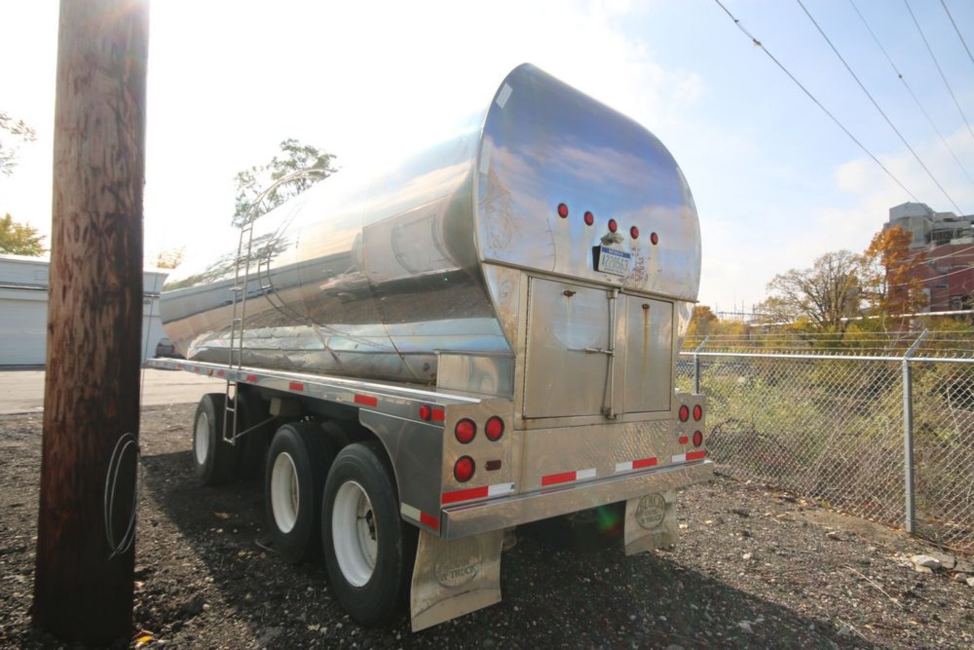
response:
[[[342,449],[328,472],[321,539],[331,587],[361,625],[390,621],[405,602],[417,530],[399,517],[393,472],[373,440]]]

